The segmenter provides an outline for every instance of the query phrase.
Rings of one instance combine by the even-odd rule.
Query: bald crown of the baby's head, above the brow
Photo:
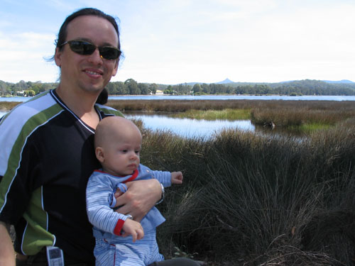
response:
[[[95,148],[104,146],[104,143],[124,141],[136,137],[137,141],[142,139],[141,131],[130,120],[121,116],[108,116],[99,122],[95,131]]]

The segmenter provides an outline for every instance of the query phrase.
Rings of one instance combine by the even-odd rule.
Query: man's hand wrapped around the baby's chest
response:
[[[134,221],[140,222],[148,211],[155,206],[162,196],[161,186],[157,179],[137,180],[126,183],[128,189],[124,194],[115,194],[116,211],[130,214]]]

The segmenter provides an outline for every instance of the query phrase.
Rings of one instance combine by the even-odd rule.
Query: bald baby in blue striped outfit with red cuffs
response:
[[[96,265],[150,265],[164,260],[155,229],[165,218],[153,207],[138,223],[131,215],[114,211],[114,194],[117,189],[126,192],[125,183],[138,179],[155,178],[163,187],[182,184],[182,172],[153,171],[141,165],[141,131],[126,118],[102,119],[94,145],[102,170],[95,170],[89,177],[87,214],[94,226]]]

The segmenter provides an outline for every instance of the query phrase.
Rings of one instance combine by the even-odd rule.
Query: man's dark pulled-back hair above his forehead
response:
[[[62,26],[60,27],[59,33],[58,33],[58,39],[55,41],[56,48],[59,48],[59,50],[62,50],[62,44],[65,43],[65,39],[67,38],[67,26],[68,24],[74,19],[77,18],[78,16],[98,16],[100,18],[104,18],[107,21],[109,21],[112,26],[114,26],[114,29],[116,30],[117,37],[119,38],[119,26],[116,23],[116,19],[107,13],[104,13],[100,11],[99,9],[92,9],[92,8],[86,8],[86,9],[80,9],[78,11],[75,11],[72,13],[70,16],[67,16],[65,18],[65,21],[62,23]],[[121,44],[120,41],[117,44],[117,48],[121,50]]]

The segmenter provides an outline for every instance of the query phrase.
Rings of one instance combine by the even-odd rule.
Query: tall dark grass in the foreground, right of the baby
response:
[[[178,246],[220,265],[353,265],[354,121],[301,142],[143,132],[143,163],[184,172],[182,187],[158,206],[165,256]]]

